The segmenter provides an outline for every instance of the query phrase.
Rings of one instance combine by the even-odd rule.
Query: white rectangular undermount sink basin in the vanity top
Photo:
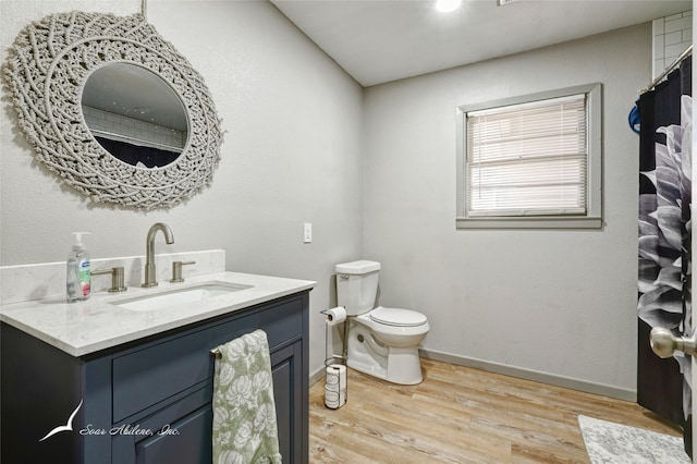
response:
[[[216,296],[228,295],[241,290],[250,289],[253,285],[244,285],[231,282],[201,282],[181,289],[167,290],[160,293],[144,294],[110,302],[119,307],[145,312],[164,309],[173,306],[201,304]]]

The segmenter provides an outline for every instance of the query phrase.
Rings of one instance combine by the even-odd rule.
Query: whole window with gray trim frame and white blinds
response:
[[[457,218],[469,228],[600,228],[601,85],[457,111]]]

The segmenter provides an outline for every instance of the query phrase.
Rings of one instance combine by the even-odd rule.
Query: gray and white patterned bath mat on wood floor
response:
[[[578,416],[592,464],[690,464],[682,437]]]

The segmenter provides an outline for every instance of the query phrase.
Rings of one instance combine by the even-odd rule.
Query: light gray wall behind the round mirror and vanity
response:
[[[72,10],[134,14],[140,0],[0,3],[2,60],[22,27]],[[59,261],[70,232],[90,231],[93,258],[224,248],[230,270],[318,281],[310,293],[310,369],[323,362],[335,262],[362,251],[362,88],[267,2],[154,1],[148,21],[192,62],[227,131],[212,186],[171,210],[89,204],[33,160],[7,89],[0,113],[0,265]],[[314,242],[303,244],[303,222]]]

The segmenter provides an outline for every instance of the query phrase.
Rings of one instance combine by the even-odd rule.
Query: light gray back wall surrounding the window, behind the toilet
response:
[[[638,136],[627,113],[650,76],[645,24],[366,89],[364,257],[382,262],[380,304],[428,316],[427,351],[633,394]],[[594,82],[604,86],[603,229],[455,230],[456,107]]]

